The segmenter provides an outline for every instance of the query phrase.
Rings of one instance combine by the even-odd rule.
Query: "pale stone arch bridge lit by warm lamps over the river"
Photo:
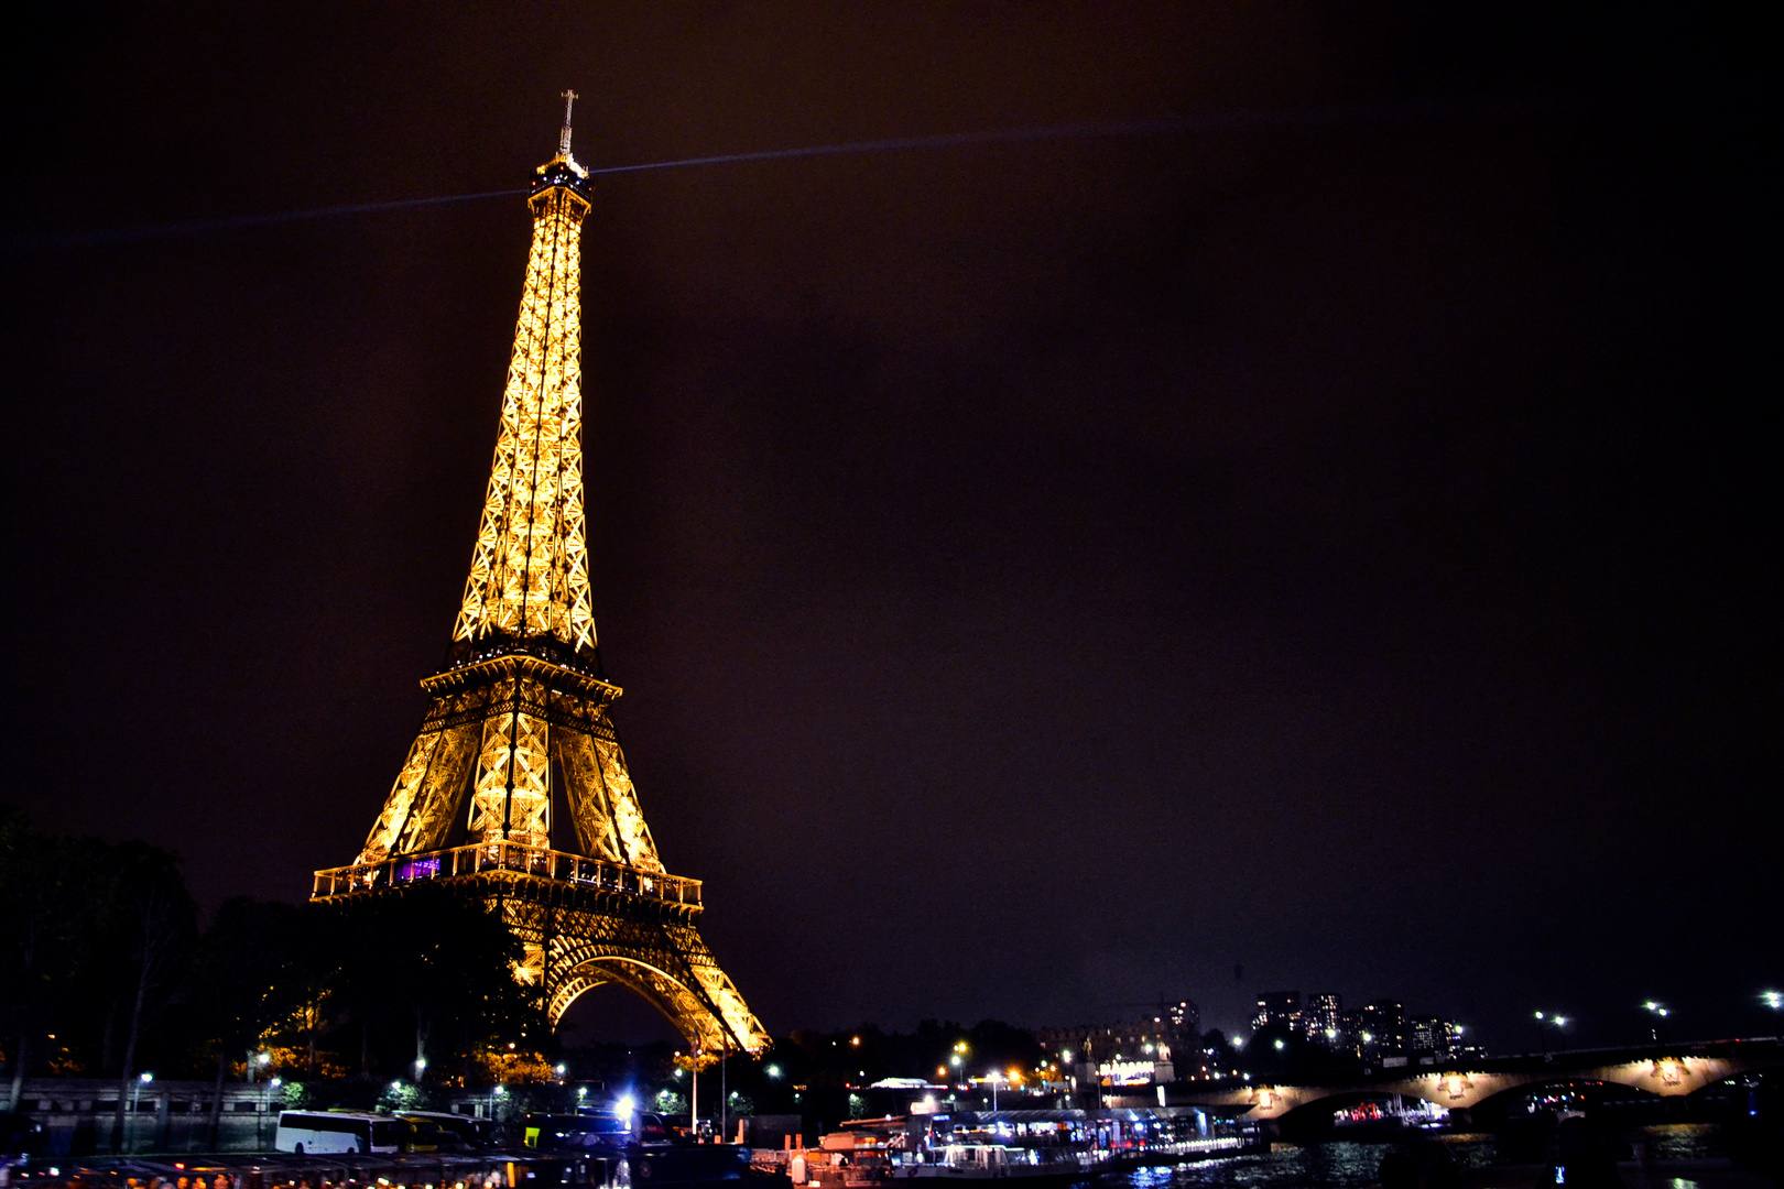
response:
[[[1422,1098],[1450,1111],[1475,1111],[1495,1098],[1559,1082],[1604,1082],[1656,1096],[1695,1095],[1706,1086],[1784,1068],[1784,1041],[1706,1041],[1647,1048],[1597,1048],[1524,1057],[1493,1057],[1470,1064],[1420,1070],[1381,1070],[1372,1077],[1333,1084],[1224,1082],[1199,1089],[1177,1082],[1170,1105],[1238,1107],[1245,1119],[1284,1119],[1295,1112],[1338,1109],[1377,1095]]]

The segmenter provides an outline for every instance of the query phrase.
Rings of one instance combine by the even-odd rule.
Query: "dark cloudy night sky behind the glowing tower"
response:
[[[721,961],[776,1032],[1775,1030],[1772,66],[1447,7],[62,5],[5,232],[519,187],[566,86],[592,166],[1177,121],[599,180],[596,620]],[[11,242],[0,797],[205,904],[353,857],[528,232]]]

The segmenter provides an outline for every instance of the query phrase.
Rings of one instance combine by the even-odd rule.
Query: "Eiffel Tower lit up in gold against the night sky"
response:
[[[612,982],[653,1004],[698,1061],[769,1037],[699,936],[699,881],[657,857],[608,706],[589,603],[582,481],[582,219],[589,171],[558,153],[526,205],[533,242],[471,578],[446,667],[351,866],[312,898],[417,881],[494,906],[524,947],[516,977],[555,1025]],[[553,841],[558,845],[553,847]]]

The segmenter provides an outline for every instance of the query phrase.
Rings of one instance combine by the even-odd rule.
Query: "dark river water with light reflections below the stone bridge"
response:
[[[1643,1127],[1631,1132],[1639,1162],[1620,1166],[1629,1189],[1745,1189],[1772,1182],[1748,1177],[1722,1159],[1716,1128],[1700,1123]],[[1095,1189],[1367,1189],[1379,1184],[1381,1159],[1399,1148],[1429,1171],[1449,1162],[1466,1189],[1522,1189],[1547,1184],[1552,1139],[1486,1134],[1424,1136],[1411,1143],[1327,1141],[1272,1144],[1258,1152],[1195,1164],[1142,1168],[1103,1177]]]

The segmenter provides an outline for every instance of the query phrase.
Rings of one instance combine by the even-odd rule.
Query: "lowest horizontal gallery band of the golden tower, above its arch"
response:
[[[591,859],[564,850],[524,847],[517,841],[475,843],[469,847],[453,847],[451,850],[405,854],[380,863],[328,868],[326,872],[316,872],[312,897],[341,897],[351,891],[401,888],[430,879],[476,875],[482,872],[514,872],[517,875],[537,875],[598,891],[667,900],[671,904],[699,904],[698,879],[646,872],[623,863]]]

